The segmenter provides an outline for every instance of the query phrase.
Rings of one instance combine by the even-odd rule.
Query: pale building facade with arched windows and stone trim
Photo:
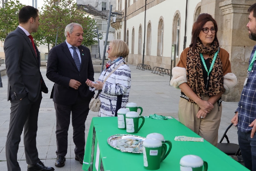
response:
[[[238,79],[235,90],[223,96],[223,100],[239,101],[255,45],[248,38],[246,27],[247,9],[254,3],[255,0],[116,0],[116,11],[123,15],[112,26],[116,28],[116,38],[129,46],[128,63],[143,62],[151,68],[170,69],[179,61],[182,50],[189,46],[197,16],[211,14],[218,24],[220,46],[229,52],[231,69]],[[175,64],[171,66],[173,59]]]

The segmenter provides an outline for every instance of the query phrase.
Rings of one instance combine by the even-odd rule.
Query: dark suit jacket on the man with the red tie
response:
[[[8,76],[7,100],[28,96],[36,101],[41,91],[48,93],[40,72],[40,54],[25,32],[17,27],[4,41],[6,73]]]

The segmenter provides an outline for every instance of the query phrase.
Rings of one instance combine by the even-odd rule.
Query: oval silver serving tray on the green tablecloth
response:
[[[129,134],[116,134],[107,139],[107,143],[122,152],[143,153],[142,143],[145,137]]]

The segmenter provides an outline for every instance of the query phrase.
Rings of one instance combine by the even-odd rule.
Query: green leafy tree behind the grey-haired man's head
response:
[[[40,26],[33,37],[37,44],[50,44],[55,45],[56,34],[58,33],[57,44],[64,42],[64,30],[66,25],[71,22],[79,23],[83,26],[84,39],[83,45],[90,46],[97,42],[94,40],[97,34],[93,32],[96,26],[95,21],[88,16],[85,12],[78,9],[76,3],[72,0],[44,0],[44,5],[40,10]]]

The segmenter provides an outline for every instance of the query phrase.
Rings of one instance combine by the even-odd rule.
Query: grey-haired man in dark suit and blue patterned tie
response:
[[[51,98],[56,110],[56,167],[65,165],[70,113],[75,159],[83,164],[85,120],[94,95],[85,83],[87,79],[94,80],[94,71],[90,50],[81,46],[83,34],[80,24],[68,24],[65,28],[66,41],[52,48],[48,55],[46,76],[55,83]]]

